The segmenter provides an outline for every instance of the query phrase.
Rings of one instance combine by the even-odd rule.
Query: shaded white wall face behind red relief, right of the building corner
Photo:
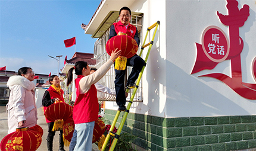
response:
[[[239,28],[244,43],[241,53],[242,79],[243,82],[255,83],[251,75],[251,62],[256,56],[255,1],[238,2],[239,9],[244,4],[250,7],[248,20]],[[241,97],[217,79],[198,78],[199,75],[216,72],[230,76],[229,60],[219,63],[213,70],[190,74],[196,59],[195,43],[201,44],[202,31],[206,27],[216,25],[229,37],[228,27],[220,23],[216,14],[219,11],[227,15],[226,4],[224,0],[166,1],[167,117],[256,114],[255,100]]]

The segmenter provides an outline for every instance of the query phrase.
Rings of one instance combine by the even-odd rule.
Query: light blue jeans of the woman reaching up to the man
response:
[[[75,124],[77,131],[76,146],[74,150],[77,151],[91,151],[92,150],[92,136],[95,121],[89,123]]]

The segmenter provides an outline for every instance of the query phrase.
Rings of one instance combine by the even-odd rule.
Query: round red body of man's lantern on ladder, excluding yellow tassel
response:
[[[121,56],[128,59],[134,56],[138,51],[138,44],[136,40],[124,33],[118,33],[117,36],[110,38],[106,44],[106,50],[108,55],[111,55],[112,51],[117,49],[122,50]]]

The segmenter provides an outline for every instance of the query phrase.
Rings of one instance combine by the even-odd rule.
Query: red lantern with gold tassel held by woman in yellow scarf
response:
[[[62,130],[63,123],[72,114],[70,105],[63,101],[55,101],[54,104],[49,105],[45,110],[45,117],[49,121],[54,121],[52,131]]]

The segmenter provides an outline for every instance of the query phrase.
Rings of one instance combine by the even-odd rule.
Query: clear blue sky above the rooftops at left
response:
[[[18,71],[27,66],[35,73],[57,75],[64,59],[74,52],[93,53],[96,38],[85,34],[101,0],[0,0],[0,68]],[[76,37],[76,46],[65,48],[64,40]],[[58,58],[57,58],[58,59]]]

